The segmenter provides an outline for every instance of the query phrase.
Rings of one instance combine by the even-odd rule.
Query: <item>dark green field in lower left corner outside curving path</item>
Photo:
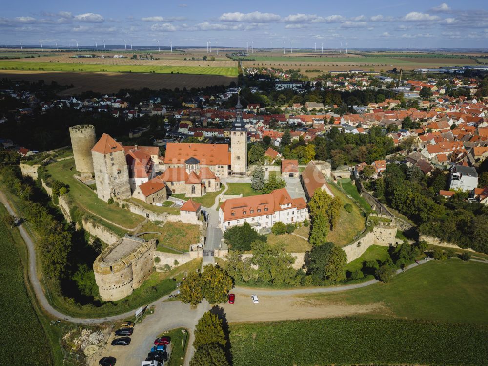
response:
[[[1,206],[0,213],[6,210]],[[17,240],[17,238],[16,238]],[[30,365],[53,365],[51,345],[24,283],[24,273],[14,238],[0,221],[0,322],[4,334],[0,342],[2,365],[18,365],[26,357]],[[28,351],[22,345],[28,337]],[[27,365],[27,363],[26,363]]]

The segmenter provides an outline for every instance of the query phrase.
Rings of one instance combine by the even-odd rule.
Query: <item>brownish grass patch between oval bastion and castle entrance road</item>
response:
[[[158,248],[167,252],[166,248],[161,247],[159,244],[163,244],[170,248],[180,250],[182,252],[188,252],[190,244],[196,244],[200,242],[202,235],[202,227],[200,225],[184,224],[183,222],[166,222],[163,226],[158,226],[153,222],[146,222],[141,232],[156,231],[161,234],[144,234],[144,239],[149,240],[158,239]]]

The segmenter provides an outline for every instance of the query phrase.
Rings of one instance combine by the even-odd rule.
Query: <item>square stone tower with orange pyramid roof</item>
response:
[[[98,198],[107,202],[111,197],[131,197],[125,150],[104,133],[91,150]]]

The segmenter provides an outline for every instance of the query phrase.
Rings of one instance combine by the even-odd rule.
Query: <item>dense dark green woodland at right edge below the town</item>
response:
[[[421,234],[488,253],[488,208],[465,201],[466,192],[451,200],[436,195],[447,188],[447,175],[441,170],[426,177],[417,167],[387,164],[383,177],[371,187],[380,201],[414,221]]]

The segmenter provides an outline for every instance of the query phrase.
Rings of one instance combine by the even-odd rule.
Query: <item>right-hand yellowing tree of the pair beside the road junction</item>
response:
[[[209,303],[227,301],[227,295],[233,287],[233,282],[224,269],[208,264],[203,267],[201,277],[203,297]]]

